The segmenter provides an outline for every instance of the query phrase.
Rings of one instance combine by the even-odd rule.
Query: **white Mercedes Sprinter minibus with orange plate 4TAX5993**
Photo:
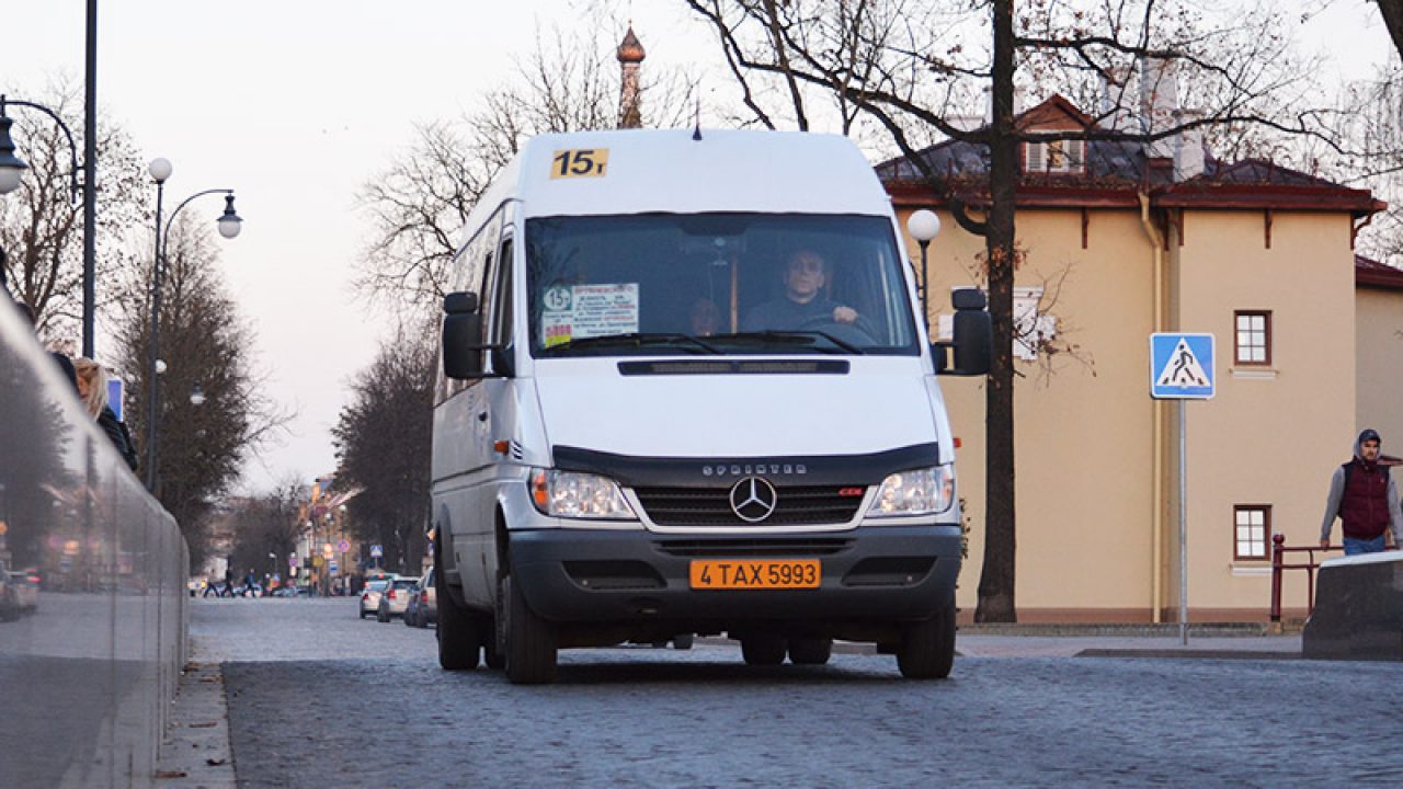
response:
[[[443,300],[439,661],[551,682],[557,651],[730,636],[746,664],[954,656],[961,557],[939,373],[891,201],[846,138],[530,139]]]

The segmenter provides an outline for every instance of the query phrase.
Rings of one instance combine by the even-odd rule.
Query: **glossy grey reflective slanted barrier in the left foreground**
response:
[[[4,295],[0,524],[0,577],[39,578],[0,594],[0,786],[150,785],[184,663],[185,541]]]

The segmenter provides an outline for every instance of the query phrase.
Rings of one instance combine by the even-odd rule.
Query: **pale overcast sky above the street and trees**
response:
[[[0,91],[34,98],[60,74],[81,83],[84,6],[0,0]],[[644,69],[710,58],[714,46],[680,0],[98,6],[100,110],[146,159],[171,160],[167,205],[208,188],[239,195],[244,230],[220,243],[220,265],[253,321],[268,396],[297,410],[281,445],[250,460],[251,490],[335,468],[328,430],[347,403],[347,382],[389,331],[349,289],[369,232],[355,197],[412,143],[415,122],[471,110],[511,76],[513,55],[532,52],[537,24],[571,29],[589,10],[619,20],[619,37],[633,20],[648,53]],[[1302,38],[1348,58],[1341,67],[1350,74],[1382,62],[1389,46],[1365,0],[1334,0]],[[213,220],[222,201],[202,201],[185,213]],[[112,351],[101,334],[97,347],[100,357]]]

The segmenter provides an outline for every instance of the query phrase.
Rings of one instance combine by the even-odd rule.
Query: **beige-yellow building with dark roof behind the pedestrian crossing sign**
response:
[[[1021,114],[1020,126],[1093,128],[1061,97]],[[1365,413],[1355,394],[1352,247],[1383,205],[1266,161],[1216,161],[1197,139],[1169,142],[1162,157],[1122,142],[1023,145],[1021,622],[1177,618],[1179,404],[1149,396],[1152,333],[1216,338],[1216,394],[1184,404],[1191,621],[1266,619],[1271,536],[1317,541],[1330,473],[1348,459],[1357,413]],[[986,204],[979,146],[947,140],[922,156],[969,205]],[[902,222],[919,208],[940,215],[929,247],[934,333],[950,291],[982,285],[984,239],[958,227],[909,163],[877,171]],[[918,244],[908,246],[919,260]],[[1399,348],[1396,357],[1403,340]],[[984,552],[984,379],[943,386],[964,446],[960,494],[971,535],[958,604],[968,619]],[[1403,446],[1403,428],[1396,435]],[[1305,583],[1288,573],[1288,616],[1303,612]]]

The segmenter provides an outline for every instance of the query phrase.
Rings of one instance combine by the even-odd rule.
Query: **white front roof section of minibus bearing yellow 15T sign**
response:
[[[502,178],[526,216],[609,213],[887,215],[852,140],[811,132],[624,129],[540,135]],[[553,177],[554,175],[554,177]]]

